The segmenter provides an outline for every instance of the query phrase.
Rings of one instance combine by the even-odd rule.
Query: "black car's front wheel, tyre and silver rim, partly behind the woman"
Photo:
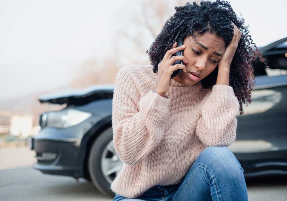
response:
[[[123,162],[114,149],[113,130],[109,127],[92,143],[89,153],[88,169],[95,187],[101,193],[115,196],[110,187],[122,166]]]

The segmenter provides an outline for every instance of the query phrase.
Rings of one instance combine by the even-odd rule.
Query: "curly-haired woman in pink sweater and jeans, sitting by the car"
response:
[[[116,77],[113,140],[123,167],[111,184],[114,201],[248,200],[227,146],[242,102],[251,103],[251,61],[265,60],[228,2],[175,9],[147,50],[151,65],[125,66]],[[183,64],[172,65],[177,60]]]

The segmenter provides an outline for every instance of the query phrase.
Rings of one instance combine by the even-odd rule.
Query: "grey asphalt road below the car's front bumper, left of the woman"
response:
[[[45,175],[33,167],[0,170],[1,201],[111,201],[91,182],[65,176]]]

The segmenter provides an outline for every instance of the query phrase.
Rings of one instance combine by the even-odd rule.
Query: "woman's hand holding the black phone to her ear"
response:
[[[182,60],[184,63],[188,63],[187,59],[184,56],[172,56],[179,50],[185,49],[185,45],[176,47],[176,42],[173,44],[172,48],[167,50],[162,61],[158,64],[158,77],[157,83],[154,88],[154,92],[158,93],[161,96],[164,96],[171,83],[171,75],[173,71],[177,69],[183,69],[186,72],[186,67],[184,64],[175,64],[172,65],[175,61]]]

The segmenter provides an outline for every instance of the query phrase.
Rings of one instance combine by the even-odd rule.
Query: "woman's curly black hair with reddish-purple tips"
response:
[[[149,61],[153,65],[153,72],[158,71],[158,64],[164,58],[167,50],[171,49],[173,43],[180,37],[182,39],[203,34],[214,33],[224,39],[226,47],[233,37],[232,21],[242,32],[235,55],[229,70],[229,84],[239,101],[240,115],[243,115],[242,103],[247,100],[251,103],[251,90],[254,89],[255,76],[252,61],[258,58],[267,67],[267,61],[258,50],[256,44],[248,35],[248,27],[244,25],[244,18],[236,17],[230,2],[217,0],[216,2],[201,1],[200,5],[187,2],[183,6],[175,6],[176,13],[171,16],[157,36],[152,45],[147,49]],[[196,33],[196,34],[195,34]],[[250,42],[251,41],[251,42]],[[254,44],[254,47],[251,47]],[[204,79],[200,80],[205,89],[212,88],[216,84],[218,67]],[[247,103],[248,104],[248,103]]]

